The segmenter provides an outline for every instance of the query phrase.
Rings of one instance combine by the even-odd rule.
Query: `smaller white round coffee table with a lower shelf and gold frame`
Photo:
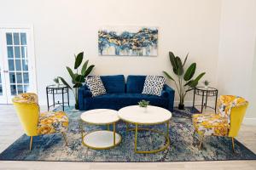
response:
[[[94,150],[113,148],[121,142],[121,136],[115,131],[115,123],[119,121],[118,111],[96,109],[81,114],[82,144]],[[108,130],[96,130],[84,134],[84,122],[88,125],[107,125]],[[109,129],[113,125],[113,131]]]

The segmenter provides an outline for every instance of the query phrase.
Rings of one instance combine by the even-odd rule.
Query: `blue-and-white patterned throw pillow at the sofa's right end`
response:
[[[147,76],[144,82],[143,94],[160,96],[165,82],[165,77]]]

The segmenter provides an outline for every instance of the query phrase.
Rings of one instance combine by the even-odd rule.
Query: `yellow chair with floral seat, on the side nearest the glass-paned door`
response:
[[[68,127],[68,118],[63,111],[47,111],[40,113],[37,94],[19,94],[12,99],[20,123],[27,136],[30,136],[30,150],[32,137],[49,133],[62,133],[67,145],[65,132]]]

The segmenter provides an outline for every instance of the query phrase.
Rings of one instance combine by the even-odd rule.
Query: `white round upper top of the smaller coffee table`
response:
[[[95,109],[82,113],[81,119],[87,123],[103,125],[118,122],[119,116],[118,111],[110,109]]]

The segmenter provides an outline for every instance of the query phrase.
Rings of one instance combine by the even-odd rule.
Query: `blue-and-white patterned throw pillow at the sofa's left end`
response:
[[[107,94],[101,77],[87,77],[85,80],[87,87],[90,89],[92,97]]]

